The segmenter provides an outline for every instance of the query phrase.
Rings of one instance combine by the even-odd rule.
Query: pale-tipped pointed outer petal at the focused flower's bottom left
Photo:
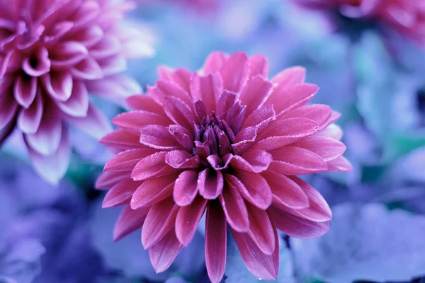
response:
[[[145,226],[145,225],[144,225]],[[149,258],[152,262],[155,272],[164,272],[176,256],[180,253],[183,246],[176,237],[174,229],[171,229],[161,241],[149,248]]]

